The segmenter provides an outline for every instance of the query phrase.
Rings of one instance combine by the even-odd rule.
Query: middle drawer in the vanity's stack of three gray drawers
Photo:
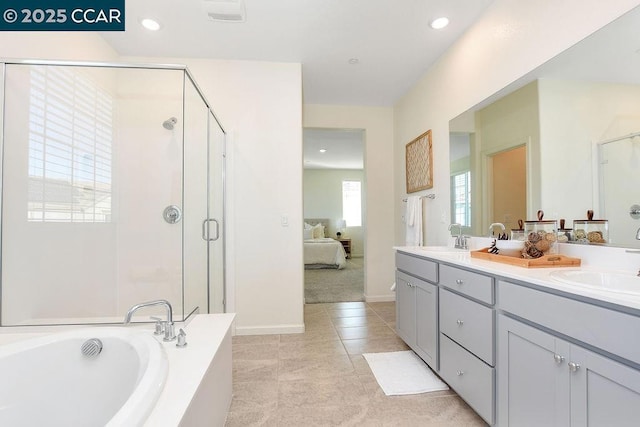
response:
[[[495,312],[470,299],[440,291],[440,332],[495,366]]]

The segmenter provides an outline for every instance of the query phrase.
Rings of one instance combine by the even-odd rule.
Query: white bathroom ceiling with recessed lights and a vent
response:
[[[122,56],[301,63],[305,103],[392,106],[491,3],[243,1],[246,19],[236,23],[209,20],[202,0],[131,0],[126,31],[100,34]],[[449,26],[430,28],[443,15]],[[142,28],[144,17],[161,29]]]

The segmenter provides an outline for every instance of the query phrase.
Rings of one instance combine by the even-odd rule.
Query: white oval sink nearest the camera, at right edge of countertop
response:
[[[588,287],[621,294],[640,295],[640,277],[632,274],[585,271],[558,270],[549,273],[552,279],[570,285]]]

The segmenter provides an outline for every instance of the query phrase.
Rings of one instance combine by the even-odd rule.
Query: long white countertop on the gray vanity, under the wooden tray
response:
[[[577,245],[573,245],[577,246]],[[460,249],[453,249],[451,251],[443,251],[440,248],[433,248],[439,250],[429,250],[429,247],[416,247],[416,246],[398,246],[394,247],[395,250],[405,252],[408,254],[418,255],[425,258],[430,258],[435,261],[443,261],[449,264],[454,264],[460,267],[469,268],[478,272],[489,273],[491,275],[501,276],[506,279],[519,280],[523,282],[532,283],[549,290],[561,291],[569,293],[583,298],[588,298],[596,301],[614,304],[633,310],[638,310],[640,315],[640,295],[624,294],[613,291],[599,290],[594,288],[588,288],[579,285],[573,285],[568,283],[562,283],[552,279],[549,273],[555,270],[591,270],[591,271],[611,271],[617,273],[625,273],[632,275],[633,271],[637,272],[637,269],[631,270],[630,267],[624,268],[629,265],[628,262],[623,264],[620,262],[620,257],[625,254],[626,251],[621,248],[598,248],[598,249],[610,249],[607,253],[602,252],[596,257],[601,262],[595,262],[593,254],[580,253],[580,254],[567,254],[568,256],[574,256],[582,259],[582,265],[580,267],[557,267],[557,268],[525,268],[517,267],[509,264],[503,264],[501,262],[488,261],[479,258],[472,258],[469,251]],[[586,249],[586,251],[593,251],[594,248]],[[575,252],[582,250],[582,248],[569,248],[569,250]],[[578,255],[583,255],[580,257]],[[617,257],[618,262],[608,262],[610,257]],[[640,265],[640,257],[637,255],[631,255],[631,260],[637,260]],[[640,291],[640,289],[639,289]]]

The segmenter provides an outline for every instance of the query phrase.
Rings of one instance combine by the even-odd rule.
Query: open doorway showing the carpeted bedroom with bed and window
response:
[[[364,130],[306,128],[303,145],[304,219],[323,228],[305,236],[305,302],[364,301]],[[335,257],[312,256],[321,243]]]

